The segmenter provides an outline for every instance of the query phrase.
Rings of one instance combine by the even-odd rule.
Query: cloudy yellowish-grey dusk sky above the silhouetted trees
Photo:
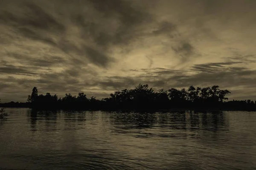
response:
[[[219,85],[256,100],[256,0],[0,0],[0,99]]]

